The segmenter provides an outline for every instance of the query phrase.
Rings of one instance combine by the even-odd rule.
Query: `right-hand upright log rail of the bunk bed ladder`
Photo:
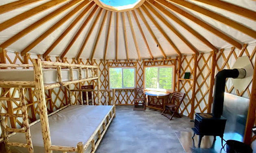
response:
[[[44,92],[43,92],[44,94]],[[25,100],[25,93],[23,88],[19,88],[19,96],[20,96],[20,105],[22,111],[22,119],[23,119],[23,126],[25,130],[26,141],[28,144],[28,152],[34,153],[30,130],[29,130],[29,123],[28,123],[28,113],[26,108],[26,100]]]

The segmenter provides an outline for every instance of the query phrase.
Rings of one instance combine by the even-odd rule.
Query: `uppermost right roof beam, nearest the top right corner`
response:
[[[256,21],[256,12],[221,0],[196,0]]]

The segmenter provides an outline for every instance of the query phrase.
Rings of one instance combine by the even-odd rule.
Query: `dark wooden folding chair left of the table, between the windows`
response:
[[[144,88],[134,88],[133,110],[145,110]]]

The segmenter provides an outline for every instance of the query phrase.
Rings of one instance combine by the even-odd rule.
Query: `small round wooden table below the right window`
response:
[[[158,91],[144,91],[145,96],[145,102],[146,99],[148,99],[148,105],[146,107],[153,108],[157,110],[164,110],[165,109],[165,102],[168,100],[168,96],[170,93],[166,92],[158,92]],[[156,103],[151,103],[150,98],[157,99]],[[159,100],[162,100],[162,103]]]

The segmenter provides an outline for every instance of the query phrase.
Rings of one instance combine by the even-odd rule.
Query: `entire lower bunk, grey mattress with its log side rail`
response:
[[[83,142],[85,153],[94,153],[109,124],[115,117],[115,105],[71,105],[48,117],[53,153],[77,152]],[[41,123],[30,126],[34,153],[44,153]],[[26,143],[24,134],[17,133],[9,142]],[[23,147],[11,147],[12,153],[27,153]]]

